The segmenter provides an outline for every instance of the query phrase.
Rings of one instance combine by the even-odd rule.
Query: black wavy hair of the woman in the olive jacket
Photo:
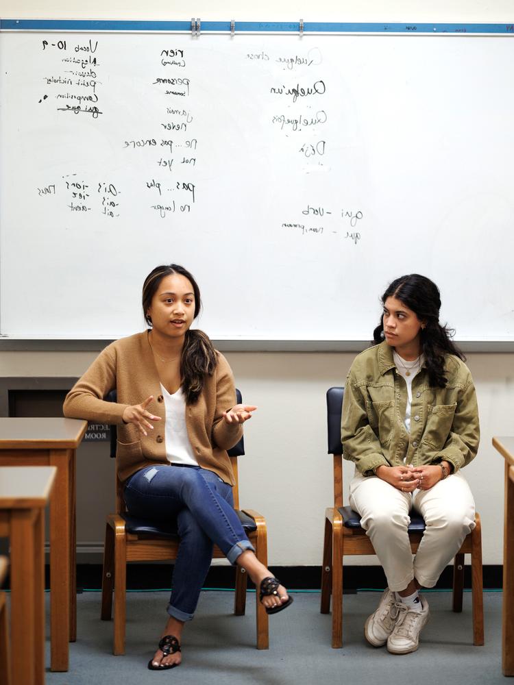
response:
[[[396,297],[406,307],[413,310],[419,321],[424,322],[420,331],[421,351],[425,356],[425,365],[430,385],[445,388],[447,378],[444,375],[445,354],[454,354],[459,359],[465,356],[453,343],[454,330],[439,323],[441,294],[436,284],[419,273],[411,273],[395,279],[382,295],[382,304],[388,297]],[[371,345],[378,345],[384,340],[384,319],[373,332]]]

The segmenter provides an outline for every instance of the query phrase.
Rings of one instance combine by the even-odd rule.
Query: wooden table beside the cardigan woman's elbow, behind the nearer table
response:
[[[0,466],[57,469],[50,497],[52,671],[68,670],[68,643],[77,637],[75,451],[86,428],[78,419],[0,418]]]

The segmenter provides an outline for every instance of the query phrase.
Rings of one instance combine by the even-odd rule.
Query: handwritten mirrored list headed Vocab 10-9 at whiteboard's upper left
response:
[[[66,40],[43,39],[41,49],[53,73],[43,77],[46,89],[53,89],[51,99],[57,101],[58,112],[89,114],[98,119],[103,114],[99,103],[101,81],[98,78],[98,40],[70,42]],[[39,103],[49,99],[45,92]]]

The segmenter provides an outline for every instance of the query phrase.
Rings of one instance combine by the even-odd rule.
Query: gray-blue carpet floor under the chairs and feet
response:
[[[233,616],[233,593],[201,595],[195,619],[184,630],[178,669],[154,673],[146,664],[166,619],[167,593],[127,595],[125,656],[112,656],[112,622],[99,620],[100,594],[78,596],[78,638],[70,645],[68,673],[47,670],[47,685],[489,685],[508,682],[501,669],[501,593],[485,593],[485,646],[474,647],[471,594],[461,614],[450,593],[426,593],[430,619],[417,652],[393,656],[363,638],[363,625],[379,593],[345,595],[343,649],[330,647],[331,616],[319,613],[319,593],[294,593],[293,605],[269,619],[269,650],[255,649],[255,595],[246,616]],[[49,597],[47,595],[47,602]],[[49,641],[47,636],[47,664]]]

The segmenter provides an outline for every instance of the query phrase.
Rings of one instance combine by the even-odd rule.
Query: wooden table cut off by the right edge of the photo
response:
[[[493,445],[505,460],[502,670],[514,675],[514,437],[493,438]]]

